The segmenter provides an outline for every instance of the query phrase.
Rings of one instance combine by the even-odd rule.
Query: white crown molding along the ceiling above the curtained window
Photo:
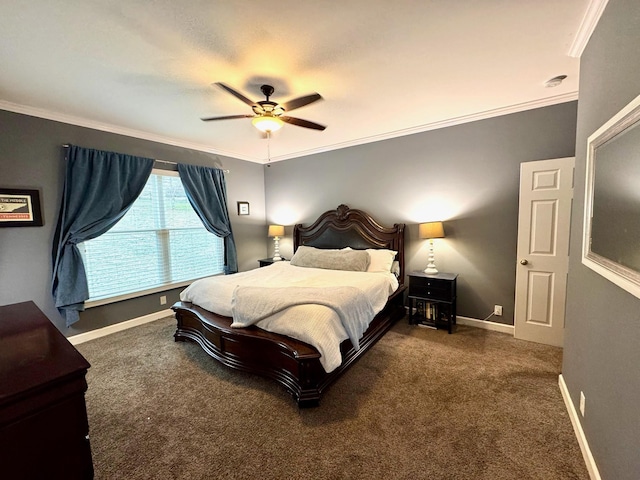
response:
[[[9,112],[21,113],[32,117],[44,118],[46,120],[53,120],[55,122],[68,123],[70,125],[76,125],[78,127],[86,127],[94,130],[100,130],[101,132],[115,133],[117,135],[125,135],[127,137],[139,138],[141,140],[149,140],[151,142],[163,143],[165,145],[172,145],[174,147],[188,148],[190,150],[197,150],[200,152],[213,153],[215,155],[223,155],[225,157],[237,158],[240,160],[246,160],[254,163],[263,163],[261,159],[248,157],[238,152],[231,152],[225,150],[219,150],[211,148],[210,145],[203,145],[200,143],[186,142],[172,137],[165,137],[163,135],[157,135],[155,133],[149,133],[142,130],[135,130],[132,128],[120,127],[117,125],[111,125],[108,123],[96,122],[94,120],[88,120],[82,117],[76,117],[73,115],[66,115],[64,113],[53,112],[43,108],[30,107],[27,105],[20,105],[17,103],[7,102],[0,100],[0,110],[7,110]]]

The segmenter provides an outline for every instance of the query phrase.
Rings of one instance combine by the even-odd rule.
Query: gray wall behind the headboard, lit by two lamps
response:
[[[491,320],[513,324],[520,163],[573,156],[576,109],[569,102],[273,163],[268,223],[289,226],[286,257],[295,223],[341,203],[406,223],[412,271],[427,264],[417,225],[443,220],[436,266],[459,274],[458,315],[484,319],[499,304],[504,316]]]

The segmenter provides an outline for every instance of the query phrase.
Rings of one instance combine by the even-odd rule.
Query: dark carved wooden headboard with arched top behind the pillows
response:
[[[318,217],[308,227],[293,229],[293,251],[300,245],[316,248],[387,248],[395,250],[400,264],[400,284],[404,284],[404,223],[383,227],[366,212],[340,205]]]

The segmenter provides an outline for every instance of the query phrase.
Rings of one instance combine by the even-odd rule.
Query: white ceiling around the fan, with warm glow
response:
[[[2,0],[0,108],[263,163],[575,100],[589,0]],[[587,15],[585,15],[587,14]],[[562,85],[544,82],[567,75]]]

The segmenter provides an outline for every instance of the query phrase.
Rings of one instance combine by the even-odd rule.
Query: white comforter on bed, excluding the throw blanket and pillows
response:
[[[289,262],[276,262],[248,272],[197,280],[180,294],[180,300],[192,302],[218,315],[232,317],[234,290],[239,285],[356,287],[364,293],[373,309],[373,315],[366,320],[368,325],[382,310],[389,295],[398,288],[398,280],[392,273],[325,270],[296,267]],[[338,314],[325,305],[291,306],[260,320],[256,326],[313,345],[320,352],[320,362],[327,372],[335,370],[342,362],[340,343],[349,338]]]

